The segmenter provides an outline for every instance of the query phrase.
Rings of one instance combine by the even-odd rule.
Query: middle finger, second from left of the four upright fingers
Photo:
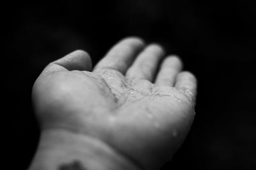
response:
[[[164,50],[159,45],[148,45],[137,57],[125,76],[152,81],[156,74],[159,61],[164,56]]]

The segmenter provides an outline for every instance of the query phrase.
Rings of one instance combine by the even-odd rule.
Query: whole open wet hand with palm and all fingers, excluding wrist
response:
[[[181,70],[179,57],[140,38],[122,39],[93,69],[88,53],[77,50],[36,80],[38,122],[42,131],[90,136],[142,169],[157,169],[172,158],[195,116],[196,78]]]

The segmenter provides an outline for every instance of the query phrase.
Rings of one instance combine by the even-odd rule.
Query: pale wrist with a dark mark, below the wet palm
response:
[[[102,141],[63,130],[42,132],[29,170],[139,170]]]

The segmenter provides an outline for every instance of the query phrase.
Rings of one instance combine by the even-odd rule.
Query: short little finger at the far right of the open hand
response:
[[[184,94],[193,101],[195,101],[196,97],[196,87],[196,77],[192,73],[182,71],[181,73],[177,74],[175,88],[184,92]]]

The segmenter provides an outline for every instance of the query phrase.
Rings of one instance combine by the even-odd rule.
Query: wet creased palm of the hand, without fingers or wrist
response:
[[[93,72],[61,70],[38,78],[44,84],[34,88],[44,108],[38,107],[39,117],[47,117],[41,118],[45,127],[98,138],[142,166],[159,164],[172,156],[189,130],[193,95],[186,87],[155,85],[121,72],[99,66]]]

